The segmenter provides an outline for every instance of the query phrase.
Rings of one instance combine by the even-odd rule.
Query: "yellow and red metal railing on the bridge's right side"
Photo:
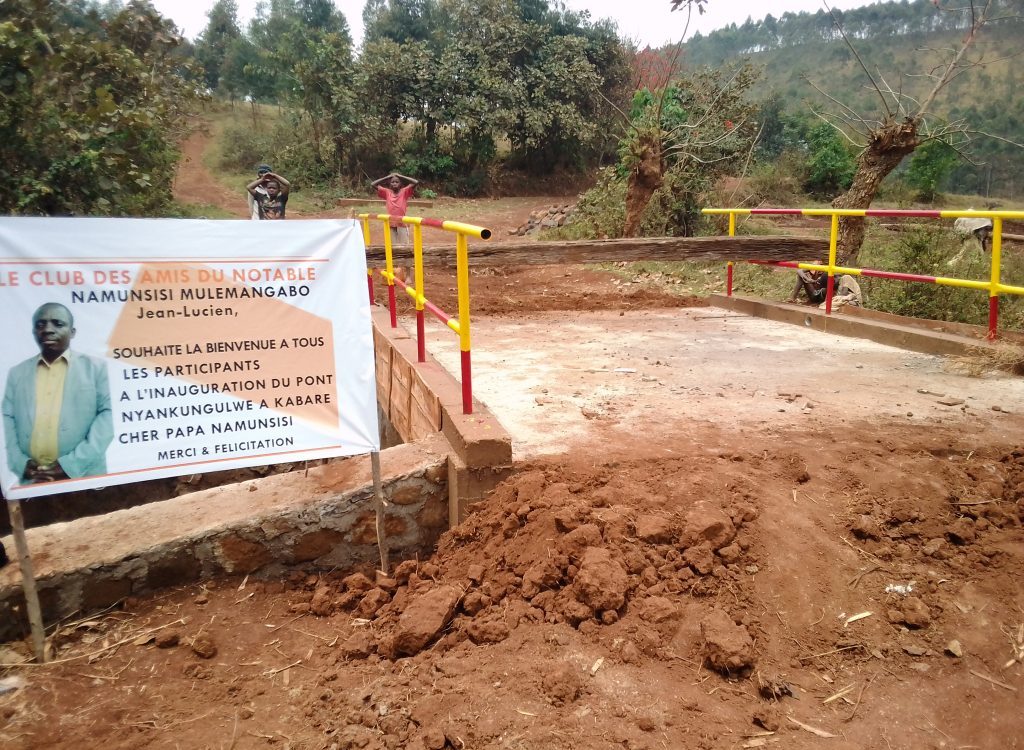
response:
[[[833,291],[835,290],[837,274],[850,276],[865,276],[876,279],[892,279],[905,282],[921,282],[938,284],[964,289],[978,289],[988,292],[988,338],[998,335],[999,295],[1024,295],[1024,287],[1002,284],[1000,281],[1000,265],[1002,262],[1002,222],[1007,219],[1024,220],[1024,211],[934,211],[934,210],[897,210],[897,209],[840,209],[840,208],[706,208],[705,214],[728,215],[729,237],[736,234],[737,215],[775,215],[775,216],[828,216],[830,228],[828,235],[828,263],[803,263],[792,260],[751,260],[748,262],[759,265],[776,265],[787,268],[803,268],[806,270],[823,270],[828,275],[825,289],[825,315],[831,315]],[[988,218],[992,220],[992,252],[991,267],[988,281],[972,279],[954,279],[941,276],[925,276],[923,274],[902,274],[899,272],[879,270],[877,268],[854,268],[836,264],[836,252],[839,241],[839,219],[841,216],[852,217],[901,217],[901,218]],[[726,294],[732,296],[732,261],[726,270]]]

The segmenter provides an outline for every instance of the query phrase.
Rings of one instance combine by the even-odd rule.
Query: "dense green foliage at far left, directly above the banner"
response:
[[[180,41],[145,2],[102,16],[8,0],[0,16],[0,211],[159,213],[196,101],[176,55]]]

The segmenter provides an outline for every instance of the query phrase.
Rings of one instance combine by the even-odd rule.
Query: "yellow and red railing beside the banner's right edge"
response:
[[[360,213],[362,221],[362,239],[370,246],[370,221],[379,219],[384,227],[384,269],[378,270],[387,281],[388,310],[391,316],[391,328],[398,327],[398,307],[395,295],[395,284],[406,290],[416,304],[416,344],[419,362],[427,361],[426,321],[425,312],[431,312],[437,320],[459,335],[459,349],[462,363],[462,411],[463,414],[473,413],[473,377],[470,359],[471,340],[469,335],[469,238],[479,240],[490,239],[490,230],[474,226],[461,221],[443,221],[441,219],[421,218],[419,216],[391,216],[386,213]],[[413,232],[413,285],[395,278],[394,248],[391,243],[391,222],[401,221]],[[459,315],[453,318],[436,304],[426,298],[423,292],[423,227],[431,226],[455,234],[456,238],[456,279],[459,290]],[[376,302],[374,294],[374,268],[367,269],[367,284],[370,291],[370,304]]]

